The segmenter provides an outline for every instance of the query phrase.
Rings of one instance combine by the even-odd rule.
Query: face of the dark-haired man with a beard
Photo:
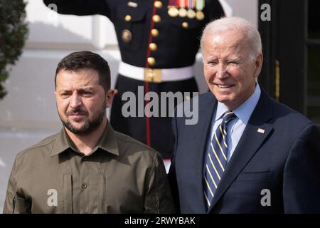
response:
[[[99,84],[97,71],[60,71],[55,98],[60,120],[72,133],[84,135],[97,129],[106,118],[110,100]]]

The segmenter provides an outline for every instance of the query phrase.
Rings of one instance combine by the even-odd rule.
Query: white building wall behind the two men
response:
[[[228,16],[241,16],[257,25],[257,0],[221,0]],[[23,54],[6,81],[8,94],[0,100],[0,211],[16,154],[42,138],[58,132],[60,120],[55,108],[54,73],[68,53],[90,50],[109,63],[112,87],[120,59],[114,28],[104,16],[55,14],[41,0],[29,0],[26,7],[30,33]],[[201,55],[195,75],[201,92]]]

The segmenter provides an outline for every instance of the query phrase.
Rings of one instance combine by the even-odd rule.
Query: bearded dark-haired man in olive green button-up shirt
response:
[[[110,68],[90,51],[70,53],[55,72],[64,127],[18,153],[4,213],[172,213],[155,150],[112,129]]]

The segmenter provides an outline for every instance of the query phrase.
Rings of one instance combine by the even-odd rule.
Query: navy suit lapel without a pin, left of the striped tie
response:
[[[213,118],[213,113],[217,104],[217,100],[215,100],[212,93],[210,93],[208,99],[204,100],[203,102],[199,100],[199,120],[198,124],[196,125],[196,129],[193,128],[193,133],[197,134],[194,135],[194,139],[196,140],[193,140],[192,142],[192,144],[194,145],[193,150],[196,150],[197,157],[195,157],[195,162],[197,162],[198,167],[198,170],[196,170],[197,180],[195,180],[195,182],[196,186],[198,187],[198,194],[202,199],[199,203],[203,213],[206,213],[206,204],[203,195],[203,159],[204,155],[206,154],[206,147],[208,144],[207,142],[208,135],[210,133],[211,120]]]

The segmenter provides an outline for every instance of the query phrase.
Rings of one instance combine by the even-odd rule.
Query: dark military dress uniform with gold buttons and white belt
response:
[[[112,126],[154,147],[162,157],[171,157],[174,150],[171,118],[146,115],[125,118],[122,105],[127,100],[122,100],[122,94],[131,91],[137,95],[139,86],[144,88],[144,94],[153,91],[159,97],[161,92],[198,91],[192,66],[203,27],[224,14],[219,1],[44,0],[44,3],[56,4],[59,14],[102,14],[112,21],[122,56],[112,104]]]

